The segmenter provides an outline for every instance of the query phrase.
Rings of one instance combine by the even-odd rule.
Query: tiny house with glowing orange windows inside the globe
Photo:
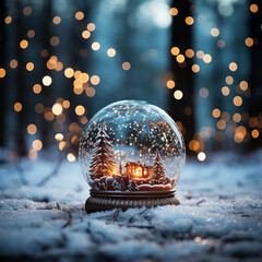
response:
[[[141,162],[128,162],[124,175],[131,176],[133,178],[148,178],[153,174],[153,167],[142,165]]]

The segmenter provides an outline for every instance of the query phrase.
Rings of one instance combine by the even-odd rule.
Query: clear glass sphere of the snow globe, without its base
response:
[[[184,143],[175,121],[141,100],[99,110],[80,141],[80,163],[93,190],[172,190],[184,165]]]

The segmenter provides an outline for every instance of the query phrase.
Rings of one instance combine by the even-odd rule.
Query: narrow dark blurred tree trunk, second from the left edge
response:
[[[23,28],[23,9],[21,5],[21,1],[16,1],[16,11],[19,12],[17,19],[16,19],[16,35],[17,35],[17,45],[23,39],[24,28]],[[17,100],[22,103],[23,109],[19,115],[17,120],[17,134],[16,134],[16,146],[17,146],[17,153],[20,156],[26,155],[26,145],[25,145],[25,130],[26,130],[26,115],[27,115],[27,108],[26,108],[26,83],[25,83],[25,75],[26,75],[26,68],[24,62],[24,50],[22,50],[20,47],[16,49],[16,57],[17,57]]]

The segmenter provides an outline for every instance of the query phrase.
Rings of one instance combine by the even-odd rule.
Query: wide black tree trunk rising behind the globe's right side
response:
[[[182,55],[184,55],[184,51],[188,48],[192,48],[192,26],[184,23],[186,17],[192,15],[190,7],[191,1],[189,0],[172,1],[171,4],[171,8],[176,8],[178,10],[178,14],[172,19],[171,47],[178,47],[180,49],[180,53]],[[178,63],[176,57],[171,56],[170,63],[176,86],[170,90],[169,93],[169,115],[176,122],[180,121],[182,123],[183,139],[188,148],[188,144],[194,134],[194,90],[193,73],[191,70],[192,62],[191,60],[186,59],[183,63]],[[182,91],[182,99],[178,100],[174,98],[174,92],[176,90]]]

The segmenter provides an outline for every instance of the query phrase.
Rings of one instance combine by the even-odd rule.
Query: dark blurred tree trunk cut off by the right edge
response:
[[[250,1],[252,4],[254,1]],[[258,1],[255,2],[258,4]],[[259,4],[258,4],[259,5]],[[259,5],[261,8],[261,5]],[[251,97],[249,98],[248,112],[250,117],[259,117],[260,129],[262,128],[262,35],[261,35],[261,9],[257,13],[251,13],[250,19],[250,37],[253,38],[254,45],[251,47],[251,74],[250,74],[250,91]],[[258,129],[258,127],[254,127]],[[262,135],[258,139],[250,140],[251,150],[262,146]]]

